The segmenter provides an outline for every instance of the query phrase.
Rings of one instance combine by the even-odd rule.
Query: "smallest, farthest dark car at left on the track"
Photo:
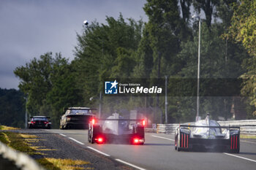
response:
[[[46,116],[33,116],[30,117],[28,128],[50,128],[50,117]]]

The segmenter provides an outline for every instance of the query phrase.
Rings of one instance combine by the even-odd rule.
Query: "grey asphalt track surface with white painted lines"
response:
[[[45,130],[59,134],[100,155],[131,166],[133,169],[255,169],[256,140],[241,139],[239,154],[228,152],[177,152],[174,135],[146,133],[143,145],[91,144],[87,130]]]

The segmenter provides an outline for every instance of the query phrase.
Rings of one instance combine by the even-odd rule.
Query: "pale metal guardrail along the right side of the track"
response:
[[[218,121],[223,126],[240,126],[241,134],[256,135],[256,120]],[[184,123],[193,125],[194,123]],[[174,134],[179,124],[157,124],[157,134]]]

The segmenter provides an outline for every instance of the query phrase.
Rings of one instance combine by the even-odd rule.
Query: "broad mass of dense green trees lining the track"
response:
[[[255,72],[255,64],[252,64],[255,60],[246,51],[254,53],[255,29],[251,28],[255,25],[250,25],[249,20],[236,20],[241,15],[246,18],[255,14],[255,6],[243,7],[246,3],[249,1],[240,5],[237,0],[147,0],[143,7],[148,15],[147,23],[132,18],[124,20],[121,14],[117,19],[107,17],[106,24],[94,21],[77,35],[78,45],[71,63],[61,54],[53,57],[45,53],[15,69],[21,80],[19,88],[28,95],[29,114],[51,116],[57,127],[63,107],[97,107],[97,97],[106,78],[147,78],[148,85],[154,83],[154,78],[162,79],[165,75],[196,79],[198,20],[192,19],[191,7],[197,14],[202,12],[200,77],[227,79]],[[245,15],[244,12],[250,11],[245,11],[246,8],[252,12]],[[249,30],[244,31],[246,26],[238,22],[247,22]],[[242,40],[244,46],[228,36],[230,26],[236,28],[231,29],[233,35],[237,35],[236,39]],[[171,88],[169,81],[168,91]],[[254,88],[255,85],[249,87]],[[94,99],[90,100],[92,97]],[[252,102],[253,99],[255,96]],[[167,100],[168,122],[195,120],[195,96],[168,96]],[[140,109],[152,113],[152,120],[159,123],[164,120],[160,117],[164,104],[162,96],[103,96],[102,111],[104,114]],[[233,97],[201,97],[200,115],[210,112],[214,118],[227,119],[233,116],[232,105]]]

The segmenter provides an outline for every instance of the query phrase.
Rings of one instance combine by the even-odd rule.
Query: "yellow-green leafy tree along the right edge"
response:
[[[241,75],[245,79],[241,93],[249,96],[249,104],[256,107],[256,1],[243,0],[235,6],[229,35],[241,42],[251,56],[243,63],[247,72]]]

